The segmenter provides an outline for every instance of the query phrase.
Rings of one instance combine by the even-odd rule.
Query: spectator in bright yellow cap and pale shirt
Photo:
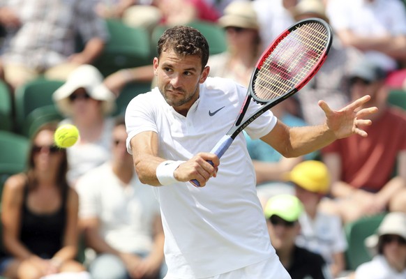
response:
[[[301,232],[296,244],[322,255],[330,266],[331,274],[338,276],[345,270],[347,241],[343,224],[340,216],[319,210],[320,200],[329,192],[329,170],[320,161],[306,160],[296,165],[287,179],[294,184],[296,197],[304,207],[299,218]]]

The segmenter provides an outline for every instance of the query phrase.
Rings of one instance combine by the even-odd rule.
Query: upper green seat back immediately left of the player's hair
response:
[[[123,68],[152,63],[149,33],[142,28],[129,27],[121,20],[106,20],[110,39],[94,62],[104,76]]]

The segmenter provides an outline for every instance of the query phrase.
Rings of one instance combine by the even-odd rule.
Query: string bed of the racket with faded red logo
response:
[[[303,24],[288,33],[257,72],[255,96],[263,100],[278,98],[306,80],[322,58],[328,39],[326,27],[318,22]]]

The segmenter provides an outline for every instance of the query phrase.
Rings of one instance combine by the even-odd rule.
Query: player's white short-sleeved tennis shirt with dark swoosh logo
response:
[[[140,94],[126,110],[128,152],[130,139],[144,131],[158,133],[158,155],[167,160],[188,160],[198,152],[209,152],[234,123],[245,96],[246,89],[232,80],[209,77],[200,84],[200,98],[185,117],[167,105],[157,88]],[[246,115],[258,107],[251,101]],[[276,117],[265,112],[246,132],[253,138],[262,137],[275,124]],[[220,159],[217,177],[209,179],[204,188],[179,182],[154,190],[171,276],[216,276],[275,255],[243,133]]]

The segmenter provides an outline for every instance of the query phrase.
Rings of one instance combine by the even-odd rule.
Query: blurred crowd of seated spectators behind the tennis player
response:
[[[300,158],[246,135],[271,242],[293,279],[406,278],[406,98],[390,102],[392,91],[406,95],[402,0],[0,0],[0,77],[11,105],[24,84],[59,80],[52,101],[62,116],[31,135],[27,169],[4,183],[0,275],[165,276],[159,205],[137,179],[122,115],[113,114],[127,84],[154,86],[153,68],[103,75],[94,62],[110,40],[105,21],[146,30],[152,45],[156,28],[214,24],[226,47],[209,57],[209,75],[248,86],[264,48],[309,17],[331,24],[329,56],[273,114],[289,126],[316,125],[324,119],[318,100],[338,109],[366,94],[379,112],[367,138],[337,140]],[[63,123],[80,130],[66,150],[52,144]],[[8,133],[21,134],[16,126]],[[383,220],[366,239],[371,260],[349,269],[345,228],[371,216]]]

